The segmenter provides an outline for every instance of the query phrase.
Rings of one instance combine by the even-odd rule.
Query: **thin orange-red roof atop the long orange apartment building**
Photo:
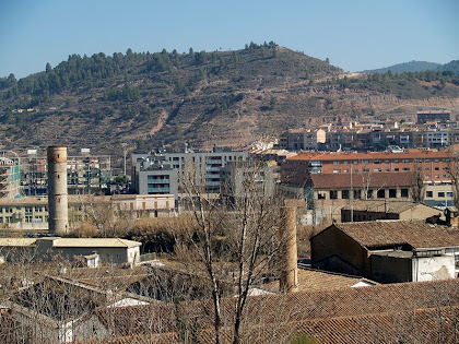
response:
[[[450,158],[448,152],[443,151],[422,151],[409,150],[400,153],[392,152],[321,152],[321,153],[299,153],[296,156],[289,157],[287,161],[365,161],[365,159],[409,159],[409,158]]]

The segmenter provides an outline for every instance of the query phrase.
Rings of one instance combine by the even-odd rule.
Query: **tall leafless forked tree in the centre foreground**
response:
[[[210,280],[215,343],[222,340],[223,286],[233,285],[233,343],[239,343],[250,290],[269,277],[268,271],[273,271],[282,240],[279,236],[281,199],[261,162],[232,164],[226,171],[222,200],[205,192],[205,176],[197,170],[189,165],[180,180],[190,214],[188,229],[183,232],[183,247],[192,248],[188,257],[204,266]]]

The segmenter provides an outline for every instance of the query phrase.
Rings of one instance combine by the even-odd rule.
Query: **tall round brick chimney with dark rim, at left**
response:
[[[67,147],[48,146],[49,233],[66,234],[69,229],[67,200]]]

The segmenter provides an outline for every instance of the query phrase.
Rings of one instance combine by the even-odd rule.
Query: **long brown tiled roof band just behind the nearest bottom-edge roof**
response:
[[[457,278],[254,296],[247,300],[243,323],[266,327],[449,306],[459,306]],[[174,305],[110,308],[99,310],[97,315],[115,336],[176,332],[177,318],[190,327],[213,328],[211,300],[183,303],[180,307],[179,317]],[[235,298],[221,300],[223,327],[233,325],[234,307]]]

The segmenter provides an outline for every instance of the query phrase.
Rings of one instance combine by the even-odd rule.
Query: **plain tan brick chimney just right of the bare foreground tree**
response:
[[[282,293],[298,290],[297,250],[296,250],[296,207],[281,207],[281,278],[279,288]]]

